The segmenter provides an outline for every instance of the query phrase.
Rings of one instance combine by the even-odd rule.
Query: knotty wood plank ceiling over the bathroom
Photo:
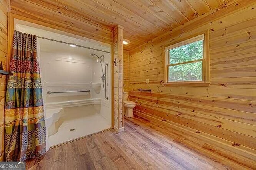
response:
[[[22,3],[19,0],[19,3]],[[33,8],[52,12],[98,25],[110,30],[124,27],[124,38],[130,51],[159,35],[178,27],[229,0],[25,0]],[[11,1],[12,2],[12,1]],[[19,7],[13,0],[12,9]],[[72,22],[71,22],[72,23]]]

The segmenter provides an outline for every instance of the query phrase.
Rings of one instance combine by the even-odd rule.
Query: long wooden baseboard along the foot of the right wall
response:
[[[249,147],[245,147],[243,145],[234,145],[234,142],[228,141],[226,139],[222,139],[220,137],[216,137],[214,135],[210,135],[208,133],[204,133],[202,131],[200,131],[200,133],[198,133],[198,130],[190,128],[190,127],[186,127],[184,125],[180,125],[178,123],[172,122],[172,121],[162,121],[161,117],[157,117],[148,113],[142,113],[140,111],[134,111],[134,114],[137,115],[138,117],[142,117],[143,119],[147,119],[150,121],[154,121],[157,123],[160,123],[162,125],[168,125],[170,127],[172,127],[173,129],[177,129],[178,131],[182,131],[188,134],[191,134],[192,136],[199,138],[200,140],[212,145],[212,146],[216,146],[220,149],[225,150],[226,152],[230,152],[230,153],[234,153],[239,155],[237,161],[242,161],[239,160],[239,157],[241,158],[241,156],[244,156],[245,158],[251,159],[251,160],[256,160],[256,150],[251,149]]]

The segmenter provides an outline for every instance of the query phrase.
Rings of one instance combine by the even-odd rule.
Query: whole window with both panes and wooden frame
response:
[[[207,36],[197,35],[165,47],[167,84],[209,84]]]

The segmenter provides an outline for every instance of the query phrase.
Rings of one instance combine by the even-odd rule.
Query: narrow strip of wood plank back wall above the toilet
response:
[[[123,57],[123,67],[124,67],[124,74],[123,74],[123,85],[124,91],[129,91],[129,51],[124,50],[124,57]]]

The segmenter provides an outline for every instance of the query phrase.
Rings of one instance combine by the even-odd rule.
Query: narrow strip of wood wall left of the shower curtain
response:
[[[7,69],[8,0],[0,0],[0,63]],[[0,161],[4,159],[4,103],[6,76],[0,75]]]

